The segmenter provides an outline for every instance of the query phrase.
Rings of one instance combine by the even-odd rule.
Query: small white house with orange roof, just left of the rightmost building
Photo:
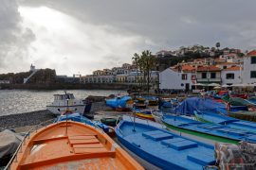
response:
[[[232,66],[221,71],[222,84],[242,84],[243,68],[240,66]]]

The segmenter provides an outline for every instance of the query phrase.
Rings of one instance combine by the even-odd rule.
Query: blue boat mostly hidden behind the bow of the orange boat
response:
[[[60,115],[54,122],[61,122],[61,121],[66,121],[66,120],[71,120],[71,121],[76,121],[76,122],[81,122],[93,127],[100,127],[104,132],[108,133],[109,132],[109,127],[102,124],[100,121],[91,121],[90,119],[82,116],[80,113],[66,113],[64,115]]]

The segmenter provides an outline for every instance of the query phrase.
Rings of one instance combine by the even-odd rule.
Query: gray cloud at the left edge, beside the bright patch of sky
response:
[[[33,32],[22,27],[22,18],[15,0],[1,0],[0,6],[0,72],[23,70],[27,47],[35,39]]]

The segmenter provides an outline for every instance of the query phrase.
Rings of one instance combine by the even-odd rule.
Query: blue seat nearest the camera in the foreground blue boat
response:
[[[200,153],[194,152],[192,154],[189,154],[187,156],[187,159],[189,161],[193,161],[195,163],[201,164],[201,165],[208,165],[208,164],[214,164],[215,159],[214,156],[210,155],[201,155]]]

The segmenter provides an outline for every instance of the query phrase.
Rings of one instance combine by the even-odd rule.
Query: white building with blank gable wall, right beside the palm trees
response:
[[[195,68],[190,65],[167,68],[159,74],[160,89],[186,90],[196,84]]]

